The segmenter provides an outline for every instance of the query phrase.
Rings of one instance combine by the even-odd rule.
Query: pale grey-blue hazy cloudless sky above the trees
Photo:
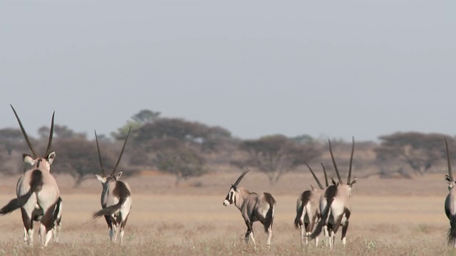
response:
[[[0,1],[0,128],[456,134],[456,1],[233,2]]]

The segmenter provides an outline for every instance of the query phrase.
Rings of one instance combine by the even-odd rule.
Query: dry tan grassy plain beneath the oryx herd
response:
[[[61,176],[61,243],[41,249],[36,235],[36,246],[25,246],[20,213],[14,212],[0,218],[0,255],[456,255],[445,240],[449,223],[443,211],[443,175],[358,178],[347,246],[337,240],[331,252],[313,244],[301,250],[294,229],[296,198],[314,183],[311,176],[287,174],[271,186],[264,175],[251,173],[242,181],[251,191],[269,191],[276,198],[270,248],[259,223],[254,224],[257,248],[244,245],[246,228],[239,210],[222,206],[235,178],[237,173],[212,174],[178,187],[166,175],[126,179],[133,208],[120,246],[108,242],[104,220],[90,218],[100,208],[101,186],[95,178],[71,188],[71,180]],[[16,178],[2,178],[1,206],[14,196],[15,185]]]

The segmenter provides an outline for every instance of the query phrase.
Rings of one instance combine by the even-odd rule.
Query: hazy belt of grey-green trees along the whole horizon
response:
[[[276,183],[284,174],[301,169],[304,161],[317,164],[327,161],[323,156],[328,151],[327,141],[306,134],[297,137],[271,134],[258,139],[239,139],[223,127],[140,110],[110,136],[98,135],[106,169],[113,168],[130,127],[132,132],[119,168],[130,175],[143,170],[172,174],[176,184],[217,171],[220,166],[252,168],[266,174],[270,183]],[[38,138],[31,137],[32,143],[44,148],[48,134],[48,127],[40,127]],[[438,171],[446,159],[444,137],[450,149],[456,150],[455,137],[437,133],[395,132],[380,136],[378,143],[356,142],[356,147],[361,147],[358,150],[373,152],[371,159],[361,159],[357,164],[375,166],[369,169],[373,171],[365,173],[366,176],[397,174],[410,178],[431,170]],[[348,152],[351,142],[336,139],[333,146]],[[0,129],[0,174],[16,175],[23,171],[21,154],[28,153],[28,150],[19,127]],[[88,139],[85,133],[56,124],[52,150],[57,153],[53,173],[73,176],[75,186],[100,172],[95,140]]]

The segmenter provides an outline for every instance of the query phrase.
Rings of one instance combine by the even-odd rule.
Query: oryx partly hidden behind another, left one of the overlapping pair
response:
[[[309,164],[307,164],[306,161],[304,161],[304,163],[311,171],[312,176],[314,176],[318,188],[314,188],[311,185],[311,190],[304,191],[301,196],[299,196],[298,201],[296,201],[296,218],[294,219],[294,225],[301,233],[301,246],[309,243],[309,235],[311,235],[311,231],[314,230],[315,223],[321,218],[319,208],[320,197],[324,189],[328,187],[328,177],[326,176],[326,169],[323,163],[321,163],[321,166],[323,166],[323,173],[326,181],[326,187],[324,188]],[[318,246],[318,237],[315,238],[315,245]]]

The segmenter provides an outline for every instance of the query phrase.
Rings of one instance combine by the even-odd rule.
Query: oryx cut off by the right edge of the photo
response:
[[[448,149],[448,142],[445,138],[445,147],[447,149],[447,164],[448,174],[445,175],[445,179],[448,183],[448,195],[445,198],[445,214],[448,220],[450,220],[450,230],[448,230],[448,245],[456,247],[456,186],[455,179],[453,178],[450,161],[450,150]]]

